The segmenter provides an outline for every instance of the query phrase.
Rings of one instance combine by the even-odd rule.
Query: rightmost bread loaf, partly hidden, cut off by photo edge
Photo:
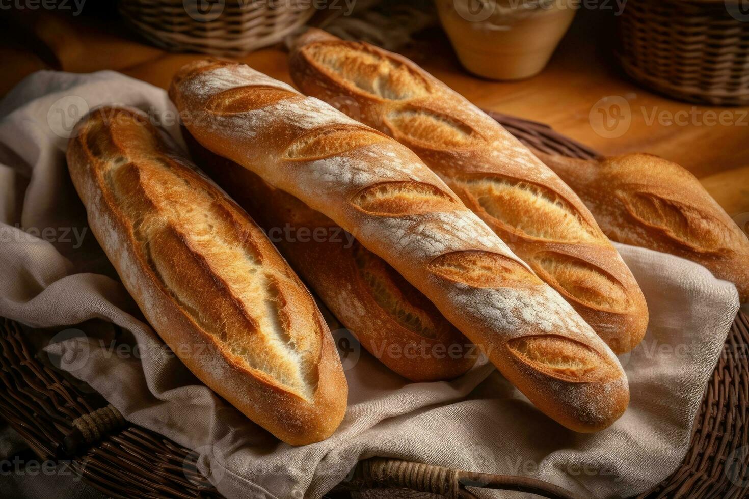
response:
[[[580,195],[610,239],[700,263],[749,301],[749,240],[685,168],[643,153],[536,156]]]

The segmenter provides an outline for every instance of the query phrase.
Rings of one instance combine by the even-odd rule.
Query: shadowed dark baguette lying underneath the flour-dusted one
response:
[[[184,132],[192,157],[263,227],[361,345],[413,382],[453,379],[476,346],[422,293],[335,222]]]

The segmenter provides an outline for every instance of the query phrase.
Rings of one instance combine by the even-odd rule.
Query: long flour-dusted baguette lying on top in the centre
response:
[[[244,64],[194,61],[169,95],[198,142],[353,233],[546,414],[593,432],[625,411],[606,343],[407,147]]]

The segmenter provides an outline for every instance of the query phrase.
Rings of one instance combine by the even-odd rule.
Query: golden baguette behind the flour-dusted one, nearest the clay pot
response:
[[[499,123],[407,58],[325,31],[303,34],[289,66],[304,94],[413,150],[615,353],[640,343],[648,310],[628,267],[580,198]]]

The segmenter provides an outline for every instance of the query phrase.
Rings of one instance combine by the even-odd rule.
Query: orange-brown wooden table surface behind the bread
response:
[[[406,55],[482,108],[553,126],[604,154],[646,152],[678,162],[700,178],[731,216],[749,213],[749,108],[670,100],[628,81],[616,67],[610,26],[582,11],[548,67],[520,82],[491,82],[465,72],[440,30],[420,36]],[[194,54],[148,46],[116,22],[52,13],[23,13],[0,41],[0,94],[41,68],[73,72],[118,70],[166,88]],[[282,49],[242,58],[290,82]],[[601,117],[613,126],[606,129]],[[627,121],[628,120],[628,121]],[[628,123],[628,124],[627,124]],[[615,136],[613,136],[615,135]]]

